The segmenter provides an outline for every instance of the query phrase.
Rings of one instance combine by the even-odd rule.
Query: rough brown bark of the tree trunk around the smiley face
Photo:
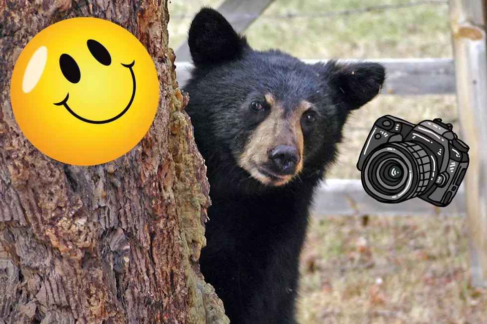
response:
[[[0,323],[229,323],[197,263],[209,185],[167,47],[167,0],[0,0],[0,13]],[[28,40],[76,16],[132,32],[160,80],[144,139],[94,167],[35,149],[9,100]]]

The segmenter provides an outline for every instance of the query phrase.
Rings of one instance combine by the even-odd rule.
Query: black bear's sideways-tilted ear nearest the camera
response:
[[[378,95],[386,77],[384,66],[373,62],[332,60],[325,64],[325,69],[328,86],[348,110],[358,109]]]

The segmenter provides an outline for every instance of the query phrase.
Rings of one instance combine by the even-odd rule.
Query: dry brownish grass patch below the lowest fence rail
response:
[[[455,218],[315,220],[302,255],[301,323],[486,323],[487,294],[469,287],[466,247]]]

